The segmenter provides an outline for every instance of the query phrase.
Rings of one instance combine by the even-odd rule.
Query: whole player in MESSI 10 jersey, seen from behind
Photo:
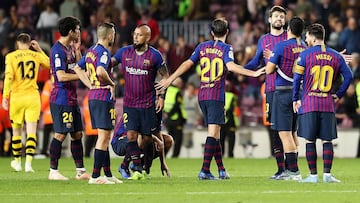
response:
[[[316,139],[323,143],[323,182],[340,182],[331,175],[332,140],[337,138],[334,108],[349,87],[352,72],[342,55],[325,46],[324,38],[322,25],[312,24],[307,28],[306,42],[310,48],[300,54],[294,70],[293,108],[299,114],[298,135],[306,139],[306,159],[310,169],[310,175],[301,182],[318,182]],[[334,82],[340,74],[343,81],[335,90]]]

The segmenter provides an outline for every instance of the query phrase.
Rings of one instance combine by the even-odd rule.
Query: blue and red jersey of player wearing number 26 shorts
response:
[[[76,65],[75,53],[71,47],[65,47],[57,41],[50,50],[50,68],[53,77],[54,88],[51,91],[50,103],[58,105],[77,105],[77,81],[60,82],[56,71],[63,70],[65,73],[73,73]]]

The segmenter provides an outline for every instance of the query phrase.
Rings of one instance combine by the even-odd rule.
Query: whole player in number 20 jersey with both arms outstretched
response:
[[[156,87],[165,89],[180,75],[193,67],[198,61],[201,66],[201,85],[199,104],[208,126],[208,137],[205,142],[203,165],[198,175],[201,180],[214,180],[210,172],[210,163],[214,157],[218,166],[219,178],[228,179],[222,161],[220,144],[220,127],[225,123],[225,79],[228,71],[237,74],[257,77],[264,69],[247,70],[234,63],[232,46],[225,43],[229,33],[228,22],[225,19],[215,19],[211,23],[211,34],[214,40],[200,43],[191,57],[184,61],[166,80],[161,80]]]

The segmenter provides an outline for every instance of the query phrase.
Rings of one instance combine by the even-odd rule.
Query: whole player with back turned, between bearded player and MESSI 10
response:
[[[292,18],[288,24],[287,40],[275,46],[266,64],[266,74],[276,74],[271,128],[279,132],[287,164],[287,172],[283,172],[277,179],[301,179],[297,164],[298,141],[295,133],[296,114],[292,109],[292,82],[295,60],[306,48],[300,40],[303,29],[304,21],[299,17]],[[281,171],[285,171],[285,167]]]

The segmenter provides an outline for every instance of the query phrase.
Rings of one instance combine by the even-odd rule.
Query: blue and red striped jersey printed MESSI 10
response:
[[[314,46],[303,51],[294,69],[293,101],[301,100],[299,114],[307,112],[335,112],[332,94],[341,98],[352,81],[352,72],[344,58],[335,50],[325,46]],[[339,89],[334,81],[343,76]],[[300,81],[303,90],[299,96]]]

